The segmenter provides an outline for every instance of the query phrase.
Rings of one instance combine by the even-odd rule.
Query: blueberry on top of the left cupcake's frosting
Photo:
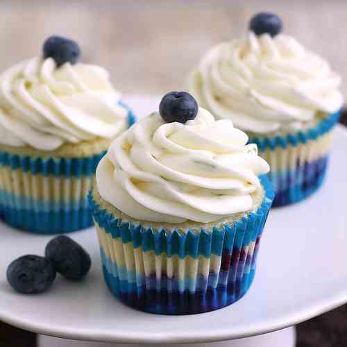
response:
[[[44,58],[53,58],[58,67],[65,62],[75,64],[81,54],[80,47],[76,42],[60,36],[49,37],[44,42],[43,51]]]

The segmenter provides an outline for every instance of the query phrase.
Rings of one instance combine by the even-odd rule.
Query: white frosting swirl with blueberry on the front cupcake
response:
[[[160,117],[161,116],[161,117]],[[140,221],[210,223],[254,208],[269,165],[228,119],[170,92],[114,142],[96,169],[101,197]]]

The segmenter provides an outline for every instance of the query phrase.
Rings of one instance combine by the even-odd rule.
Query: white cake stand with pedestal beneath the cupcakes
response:
[[[129,103],[138,115],[158,109],[155,99],[134,98]],[[253,285],[229,307],[193,316],[161,316],[122,305],[103,283],[93,228],[71,234],[92,256],[84,282],[58,277],[45,294],[17,294],[6,281],[6,267],[19,255],[43,254],[51,237],[0,224],[0,320],[42,335],[108,343],[41,336],[40,346],[49,347],[294,347],[294,328],[285,328],[347,302],[346,153],[347,130],[338,126],[325,185],[302,203],[271,210]],[[226,342],[209,344],[216,341]]]

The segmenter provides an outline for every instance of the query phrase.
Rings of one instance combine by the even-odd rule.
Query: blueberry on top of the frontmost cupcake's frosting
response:
[[[196,117],[198,103],[187,92],[169,92],[160,101],[159,112],[162,119],[168,123],[178,121],[184,124]]]

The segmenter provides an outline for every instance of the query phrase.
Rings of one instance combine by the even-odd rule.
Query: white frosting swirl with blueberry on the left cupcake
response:
[[[126,129],[108,72],[76,62],[79,53],[76,42],[50,37],[42,56],[1,74],[0,144],[53,151]]]

